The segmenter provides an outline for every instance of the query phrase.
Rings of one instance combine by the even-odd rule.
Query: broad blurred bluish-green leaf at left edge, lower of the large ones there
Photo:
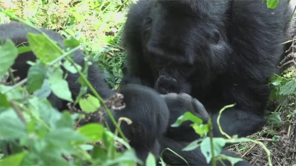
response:
[[[11,108],[0,114],[0,138],[18,139],[27,134],[26,125],[18,118],[15,111]]]

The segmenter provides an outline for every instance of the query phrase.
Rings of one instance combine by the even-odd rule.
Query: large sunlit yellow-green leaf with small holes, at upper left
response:
[[[33,53],[43,62],[51,62],[62,55],[54,41],[44,35],[28,32],[28,41]]]

